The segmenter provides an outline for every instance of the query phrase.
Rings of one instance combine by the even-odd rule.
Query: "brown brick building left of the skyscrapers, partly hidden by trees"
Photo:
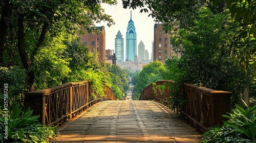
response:
[[[97,32],[86,32],[80,35],[81,43],[89,46],[91,52],[98,52],[98,61],[101,62],[105,59],[105,27],[95,27]]]

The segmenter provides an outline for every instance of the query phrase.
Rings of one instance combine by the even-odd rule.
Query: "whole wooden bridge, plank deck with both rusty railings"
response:
[[[104,97],[93,97],[90,82],[84,81],[28,92],[25,103],[44,125],[59,126],[61,136],[52,142],[200,142],[200,133],[221,125],[221,115],[230,112],[231,92],[191,84],[180,91],[185,104],[170,106],[173,86],[158,81],[139,101],[116,101],[107,86]]]

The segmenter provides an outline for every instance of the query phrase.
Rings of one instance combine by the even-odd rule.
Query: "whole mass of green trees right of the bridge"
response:
[[[169,57],[162,74],[139,73],[137,84],[148,85],[140,77],[173,80],[177,90],[191,83],[216,90],[231,91],[231,106],[244,105],[243,88],[250,88],[251,105],[256,96],[255,3],[252,1],[123,1],[124,7],[142,7],[164,25],[170,43],[181,58]],[[151,63],[152,65],[155,63]],[[160,66],[159,66],[160,67]],[[145,66],[146,68],[146,66]],[[146,70],[146,69],[145,69]],[[166,74],[165,74],[166,72]],[[159,75],[164,77],[158,78]],[[144,78],[145,79],[145,78]],[[147,78],[151,81],[151,78]],[[136,85],[137,86],[137,85]],[[141,93],[141,88],[136,87]]]

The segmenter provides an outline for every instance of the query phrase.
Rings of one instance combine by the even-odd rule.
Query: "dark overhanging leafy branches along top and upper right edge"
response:
[[[254,69],[253,75],[256,76],[256,16],[254,14],[254,1],[232,1],[232,0],[211,0],[211,1],[168,1],[168,0],[123,0],[124,8],[142,8],[141,12],[150,12],[149,16],[155,18],[156,21],[163,23],[165,32],[172,32],[174,25],[179,28],[188,27],[189,23],[196,18],[196,13],[200,8],[206,7],[212,14],[231,15],[237,22],[237,27],[230,29],[236,31],[237,28],[243,27],[243,33],[236,33],[236,36],[229,37],[230,49],[233,49],[232,61],[235,65],[239,65],[242,71],[246,71],[248,67]],[[227,21],[222,21],[221,25],[225,25]],[[222,27],[225,28],[225,27]],[[245,33],[246,32],[246,33]],[[254,35],[254,37],[253,37]],[[237,46],[237,38],[244,43]]]

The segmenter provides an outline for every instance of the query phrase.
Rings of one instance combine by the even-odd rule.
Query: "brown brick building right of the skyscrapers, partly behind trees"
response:
[[[153,60],[161,61],[163,64],[165,60],[172,55],[177,55],[173,46],[170,44],[169,34],[165,34],[161,23],[156,23],[154,26],[154,44],[153,44]]]

